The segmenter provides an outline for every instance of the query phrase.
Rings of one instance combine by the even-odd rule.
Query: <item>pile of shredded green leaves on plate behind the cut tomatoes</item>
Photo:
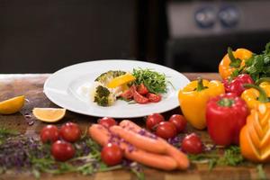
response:
[[[163,94],[166,93],[166,76],[160,74],[157,71],[153,71],[149,68],[133,68],[132,75],[136,77],[136,85],[146,85],[148,91],[154,94]]]

